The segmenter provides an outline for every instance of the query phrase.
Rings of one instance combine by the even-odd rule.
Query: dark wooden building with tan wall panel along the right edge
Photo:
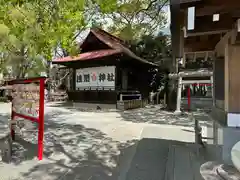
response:
[[[222,137],[223,160],[231,163],[230,150],[240,140],[240,1],[171,0],[170,9],[173,71],[190,53],[214,58],[212,117],[222,128],[214,138]]]

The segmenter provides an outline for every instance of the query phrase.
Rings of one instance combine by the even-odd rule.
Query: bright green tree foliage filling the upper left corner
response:
[[[14,66],[19,71],[16,76],[23,77],[26,70],[39,65],[38,59],[51,60],[56,47],[77,54],[75,38],[87,28],[94,11],[114,9],[116,0],[107,1],[0,0],[2,71],[8,65]]]

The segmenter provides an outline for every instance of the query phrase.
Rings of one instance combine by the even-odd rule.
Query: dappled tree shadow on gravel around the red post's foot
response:
[[[37,132],[25,132],[24,139],[14,142],[14,166],[33,162],[17,179],[116,180],[125,166],[123,156],[137,140],[114,141],[97,129],[65,123],[67,115],[61,111],[46,114],[43,161],[35,160]]]

